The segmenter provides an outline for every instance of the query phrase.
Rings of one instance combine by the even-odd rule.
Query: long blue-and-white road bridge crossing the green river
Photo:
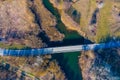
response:
[[[98,50],[98,49],[106,49],[106,48],[120,48],[120,41],[111,41],[108,43],[100,43],[100,44],[85,44],[85,45],[28,49],[28,50],[0,49],[0,55],[1,56],[37,56],[37,55],[45,55],[45,54]]]

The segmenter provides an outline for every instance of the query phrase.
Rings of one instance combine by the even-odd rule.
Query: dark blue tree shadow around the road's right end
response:
[[[109,45],[108,48],[105,49],[97,49],[95,50],[96,55],[105,63],[111,66],[111,72],[115,76],[120,76],[120,37],[111,37],[107,36],[105,39],[101,40],[101,42],[119,42],[118,44]],[[107,45],[106,45],[107,46]]]

